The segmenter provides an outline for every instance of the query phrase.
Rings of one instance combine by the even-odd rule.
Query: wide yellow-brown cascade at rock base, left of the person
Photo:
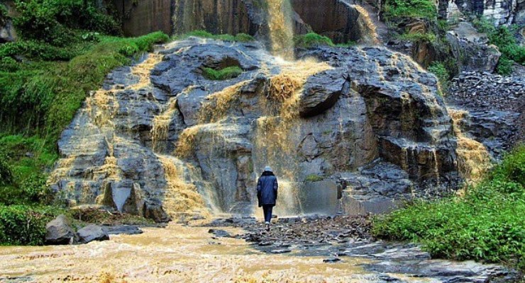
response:
[[[167,187],[162,200],[162,208],[172,217],[198,214],[209,216],[206,204],[193,184],[184,182],[184,168],[182,163],[175,164],[175,158],[157,156],[167,181]]]

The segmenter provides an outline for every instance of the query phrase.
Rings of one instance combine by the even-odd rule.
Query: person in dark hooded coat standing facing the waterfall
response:
[[[266,166],[257,182],[257,199],[259,207],[262,207],[262,212],[265,214],[266,231],[270,231],[272,209],[275,207],[278,188],[277,177],[275,177],[272,168]]]

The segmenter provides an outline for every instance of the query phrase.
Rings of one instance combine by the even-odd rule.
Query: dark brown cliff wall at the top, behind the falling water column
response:
[[[143,35],[156,30],[168,34],[207,30],[215,34],[246,33],[268,41],[270,40],[268,8],[275,5],[274,2],[273,0],[114,0],[112,5],[123,18],[123,30],[126,35]],[[367,11],[354,2],[294,0],[293,9],[286,13],[292,18],[295,34],[314,31],[330,37],[337,43],[374,42],[375,28],[368,18]]]

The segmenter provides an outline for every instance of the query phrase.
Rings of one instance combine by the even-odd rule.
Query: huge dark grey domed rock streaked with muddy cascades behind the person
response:
[[[304,213],[306,203],[315,212],[304,188],[320,179],[339,187],[343,208],[380,200],[383,211],[455,185],[452,122],[433,75],[380,47],[297,56],[283,62],[258,43],[190,38],[116,69],[62,134],[52,188],[71,204],[166,221],[250,214],[268,164],[280,178],[280,215]],[[232,66],[243,73],[203,76]],[[385,185],[366,185],[372,179]]]

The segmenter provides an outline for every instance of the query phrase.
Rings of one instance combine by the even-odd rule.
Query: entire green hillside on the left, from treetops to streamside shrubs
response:
[[[111,69],[169,38],[114,36],[118,22],[95,0],[15,4],[21,38],[0,45],[0,245],[38,245],[45,223],[64,212],[45,185],[60,132]]]

